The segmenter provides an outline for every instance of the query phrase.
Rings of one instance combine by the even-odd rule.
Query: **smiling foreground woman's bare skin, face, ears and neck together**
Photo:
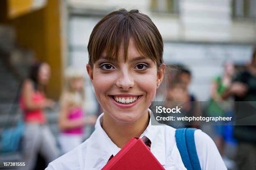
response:
[[[126,61],[121,43],[117,60],[104,57],[103,51],[93,69],[87,65],[104,112],[102,128],[119,148],[134,136],[140,136],[148,126],[148,107],[164,77],[165,65],[158,68],[156,62],[143,57],[134,42],[131,38]]]

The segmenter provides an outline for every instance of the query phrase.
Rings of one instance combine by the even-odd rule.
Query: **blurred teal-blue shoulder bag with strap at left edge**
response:
[[[18,92],[13,102],[13,105],[11,106],[10,112],[8,113],[8,116],[10,116],[10,113],[18,112],[18,107],[15,107],[14,104],[18,102],[19,94],[20,86],[18,88]],[[10,121],[7,120],[6,123],[8,122]],[[11,123],[11,125],[13,125],[13,122]],[[21,140],[25,126],[23,118],[19,117],[18,123],[14,128],[6,128],[6,126],[7,125],[4,126],[5,128],[0,138],[0,153],[15,153],[20,151]]]

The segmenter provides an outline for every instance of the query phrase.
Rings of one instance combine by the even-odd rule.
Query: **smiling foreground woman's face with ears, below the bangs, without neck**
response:
[[[118,61],[107,60],[105,52],[87,72],[104,114],[118,122],[134,122],[147,112],[156,95],[157,84],[164,76],[165,65],[158,71],[156,63],[143,57],[130,40],[125,61],[123,45]]]

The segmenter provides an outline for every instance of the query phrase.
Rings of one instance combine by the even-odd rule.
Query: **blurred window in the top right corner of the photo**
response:
[[[256,19],[256,0],[233,0],[234,18]]]

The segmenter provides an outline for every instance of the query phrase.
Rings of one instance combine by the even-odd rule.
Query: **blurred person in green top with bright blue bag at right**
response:
[[[207,107],[207,116],[233,116],[233,98],[229,97],[225,100],[221,95],[231,85],[233,76],[235,74],[235,67],[232,62],[226,62],[224,66],[223,75],[218,75],[211,88],[211,99]],[[223,157],[224,163],[227,168],[233,168],[234,163],[224,155],[225,143],[234,143],[233,139],[233,125],[215,125],[215,143]]]

